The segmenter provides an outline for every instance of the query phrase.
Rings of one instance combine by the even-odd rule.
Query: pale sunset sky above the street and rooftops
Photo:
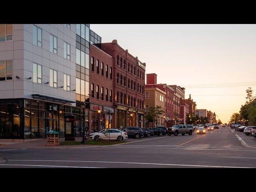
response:
[[[185,87],[197,109],[223,123],[256,94],[255,24],[90,24],[102,43],[116,39],[146,63],[157,83]]]

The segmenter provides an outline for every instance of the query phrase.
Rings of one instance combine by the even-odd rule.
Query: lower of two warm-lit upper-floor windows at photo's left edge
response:
[[[0,61],[0,81],[12,80],[13,61]]]

